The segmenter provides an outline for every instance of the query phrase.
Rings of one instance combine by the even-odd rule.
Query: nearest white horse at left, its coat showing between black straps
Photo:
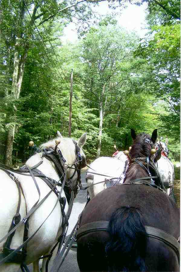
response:
[[[64,169],[67,168],[67,164],[72,166],[76,160],[76,148],[75,148],[75,142],[71,138],[63,138],[59,131],[57,131],[58,134],[58,140],[60,140],[60,144],[58,144],[59,150],[62,152],[63,158],[66,160]],[[49,141],[45,144],[41,145],[41,149],[44,148],[55,148],[55,140]],[[82,134],[80,139],[76,142],[78,144],[78,147],[80,149],[81,156],[84,156],[84,153],[82,151],[83,145],[86,143],[86,133]],[[33,156],[31,156],[27,162],[26,165],[28,167],[33,167],[34,165],[38,164],[41,160],[43,160],[43,163],[40,164],[37,169],[40,170],[40,172],[44,173],[45,176],[50,177],[51,179],[55,180],[56,182],[60,180],[60,176],[57,173],[57,170],[55,169],[55,165],[52,161],[48,160],[46,157],[43,157],[42,159],[42,152],[36,153]],[[73,169],[67,169],[66,177],[67,179],[70,178],[75,171]],[[14,173],[15,176],[18,178],[19,182],[21,183],[21,186],[24,191],[24,196],[21,192],[21,206],[20,206],[20,215],[21,220],[26,216],[26,204],[27,204],[27,212],[30,211],[32,206],[37,202],[39,199],[39,194],[37,191],[37,188],[35,186],[34,180],[31,176],[25,176],[18,173]],[[8,176],[5,171],[0,170],[0,207],[1,207],[1,213],[0,213],[0,239],[4,237],[11,225],[11,221],[13,216],[16,213],[17,206],[18,206],[18,188],[15,184],[15,182]],[[38,187],[40,189],[40,200],[42,200],[49,192],[50,187],[40,178],[36,177],[36,182],[38,184]],[[77,183],[77,172],[73,176],[72,180],[72,187],[76,186]],[[57,190],[60,191],[61,187],[57,186]],[[62,197],[65,197],[64,191],[61,193]],[[26,199],[26,204],[25,200]],[[62,213],[59,202],[57,202],[57,196],[54,192],[51,192],[50,195],[47,197],[47,199],[38,207],[38,209],[31,214],[29,219],[29,229],[28,229],[28,237],[30,237],[44,222],[44,220],[47,218],[47,220],[43,223],[41,228],[38,230],[38,232],[34,235],[34,237],[28,241],[27,243],[27,257],[25,259],[26,264],[33,263],[34,266],[34,272],[39,272],[39,265],[38,265],[38,258],[42,255],[49,254],[51,248],[53,248],[53,245],[56,243],[56,239],[61,235],[62,233]],[[55,206],[56,205],[56,206]],[[53,207],[55,208],[53,209]],[[52,211],[53,210],[53,211]],[[52,212],[51,212],[52,211]],[[65,205],[65,214],[67,214],[68,211],[68,204],[66,202]],[[18,248],[23,243],[23,234],[24,234],[24,224],[20,225],[15,231],[15,235],[12,238],[11,241],[11,249]],[[3,243],[2,241],[0,244],[0,254],[2,252]],[[42,272],[45,271],[45,261],[43,261],[42,266]],[[1,272],[15,272],[18,271],[20,268],[19,264],[16,263],[4,263],[0,267]]]

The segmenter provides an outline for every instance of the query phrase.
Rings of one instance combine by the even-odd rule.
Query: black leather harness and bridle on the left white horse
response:
[[[0,240],[0,242],[2,242],[3,240],[5,240],[7,238],[5,243],[3,244],[3,251],[0,254],[0,265],[3,264],[3,263],[7,263],[7,262],[20,263],[22,271],[24,271],[24,269],[26,271],[29,271],[26,264],[24,263],[24,260],[25,260],[25,258],[27,256],[27,249],[26,249],[27,242],[31,238],[34,237],[34,235],[37,233],[37,231],[39,230],[39,228],[41,226],[36,230],[36,232],[34,232],[33,235],[31,235],[31,237],[28,238],[28,227],[29,227],[28,220],[30,218],[30,215],[32,213],[34,213],[34,211],[44,202],[45,199],[47,199],[47,197],[50,195],[50,193],[52,191],[57,196],[57,202],[60,203],[61,212],[62,212],[62,228],[63,228],[63,232],[60,235],[60,237],[58,238],[58,242],[57,242],[57,244],[59,243],[59,250],[60,250],[60,248],[61,248],[61,246],[63,244],[64,238],[66,236],[66,231],[67,231],[66,227],[68,227],[68,219],[69,219],[69,216],[70,216],[71,211],[72,211],[73,199],[75,198],[79,187],[81,187],[81,185],[82,185],[80,170],[81,170],[82,166],[84,166],[84,164],[86,164],[86,158],[84,156],[81,156],[81,154],[80,154],[79,145],[74,140],[73,140],[73,143],[75,144],[76,162],[74,164],[72,164],[72,165],[74,165],[75,171],[74,171],[73,175],[68,180],[66,178],[66,171],[67,170],[64,170],[64,165],[65,165],[66,160],[63,158],[63,155],[62,155],[60,149],[57,148],[57,145],[55,147],[55,150],[53,148],[45,148],[43,150],[43,152],[42,152],[42,156],[41,156],[42,160],[33,167],[28,167],[27,165],[24,165],[23,167],[19,168],[18,170],[14,170],[14,169],[11,169],[10,167],[7,167],[7,166],[5,166],[3,164],[0,164],[0,169],[5,171],[8,174],[8,176],[12,180],[15,181],[15,183],[17,185],[17,188],[18,188],[18,196],[19,196],[18,197],[18,207],[17,207],[15,215],[13,216],[10,228],[8,230],[8,234],[5,235]],[[53,161],[53,163],[54,163],[54,165],[56,167],[56,170],[58,172],[58,175],[60,177],[60,180],[58,182],[56,182],[56,180],[53,180],[50,177],[45,176],[40,170],[37,169],[37,167],[40,164],[43,163],[43,157],[46,157],[48,160]],[[72,168],[72,167],[67,166],[67,168]],[[76,184],[76,186],[72,187],[71,179],[75,175],[76,171],[77,171],[77,184]],[[39,194],[39,198],[38,198],[38,200],[36,201],[36,203],[33,205],[33,207],[30,209],[30,211],[28,213],[27,213],[27,204],[26,204],[26,199],[25,199],[25,196],[24,196],[23,188],[22,188],[21,183],[19,182],[18,178],[12,172],[22,174],[22,175],[25,175],[25,176],[31,176],[32,179],[34,180],[35,186],[36,186],[38,194]],[[40,189],[38,187],[38,184],[36,182],[35,177],[40,177],[50,187],[50,192],[40,202],[39,202]],[[61,186],[60,192],[57,190],[56,186]],[[69,204],[69,209],[68,209],[67,215],[65,215],[65,212],[64,212],[66,199],[64,197],[61,197],[61,192],[62,192],[63,189],[65,191],[67,202]],[[22,195],[24,197],[25,206],[26,206],[26,216],[22,220],[21,220],[21,215],[19,213],[20,205],[21,205],[21,193],[22,193]],[[57,205],[57,202],[56,202],[56,205]],[[55,206],[53,207],[53,209],[55,208]],[[46,221],[46,219],[45,219],[45,221]],[[15,235],[15,231],[23,223],[24,223],[23,244],[20,247],[18,247],[16,250],[11,249],[10,248],[11,241],[12,241],[13,236]],[[42,223],[42,225],[43,225],[43,223]],[[57,244],[56,244],[56,246],[57,246]],[[22,250],[20,250],[21,248],[22,248]],[[46,257],[48,257],[48,261],[47,261],[47,264],[46,264],[46,271],[47,271],[48,262],[50,260],[50,257],[52,255],[52,253],[53,253],[53,251],[50,253],[49,256],[46,256]]]

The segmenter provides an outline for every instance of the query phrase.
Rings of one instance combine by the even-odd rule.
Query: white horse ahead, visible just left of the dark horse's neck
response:
[[[124,155],[123,151],[119,151],[113,158],[99,157],[90,164],[92,169],[89,168],[86,175],[87,186],[90,186],[88,188],[90,199],[107,188],[103,182],[105,179],[115,178],[115,181],[118,180],[124,170],[126,159],[127,156]],[[97,175],[96,173],[101,175]],[[119,180],[120,183],[122,181],[123,179]],[[99,184],[94,185],[95,183]]]

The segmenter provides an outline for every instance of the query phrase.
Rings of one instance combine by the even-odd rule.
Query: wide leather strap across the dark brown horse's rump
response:
[[[80,238],[82,235],[86,235],[90,232],[108,231],[108,224],[109,224],[109,221],[96,221],[96,222],[87,223],[81,226],[77,230],[77,239]],[[146,228],[148,237],[155,238],[159,241],[162,241],[166,245],[168,245],[170,248],[172,248],[175,251],[179,260],[180,244],[176,240],[175,237],[173,237],[171,234],[167,232],[164,232],[163,230],[159,228],[154,228],[150,226],[145,226],[145,228]]]

